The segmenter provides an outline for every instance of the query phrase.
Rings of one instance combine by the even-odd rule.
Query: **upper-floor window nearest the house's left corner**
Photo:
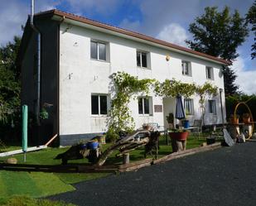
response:
[[[94,60],[106,60],[106,44],[98,41],[90,41],[90,58]]]

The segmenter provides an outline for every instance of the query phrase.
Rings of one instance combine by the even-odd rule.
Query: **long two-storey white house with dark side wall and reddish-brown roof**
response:
[[[226,60],[58,10],[36,14],[34,24],[41,33],[40,76],[36,69],[37,33],[28,19],[19,55],[22,104],[36,113],[39,88],[40,107],[50,105],[46,107],[50,117],[41,122],[41,134],[47,133],[45,139],[59,134],[60,145],[107,131],[114,93],[109,76],[117,71],[139,79],[175,78],[196,84],[209,81],[224,90],[221,68],[229,64]],[[222,92],[207,99],[206,124],[225,119],[224,97]],[[200,118],[198,100],[197,96],[184,99],[191,122]],[[156,97],[154,93],[149,98],[138,96],[129,106],[136,127],[145,122],[167,127],[166,116],[175,113],[174,98]]]

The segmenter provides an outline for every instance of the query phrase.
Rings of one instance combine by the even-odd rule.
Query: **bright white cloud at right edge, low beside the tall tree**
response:
[[[237,74],[237,79],[235,83],[239,85],[239,90],[248,94],[256,94],[256,70],[248,70],[245,68],[245,60],[241,57],[238,57],[232,69]]]

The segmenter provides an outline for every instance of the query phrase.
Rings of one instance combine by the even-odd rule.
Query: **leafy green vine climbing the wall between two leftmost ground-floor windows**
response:
[[[133,117],[128,108],[134,94],[143,93],[147,96],[154,79],[138,79],[136,76],[124,72],[112,75],[114,91],[116,92],[111,102],[109,132],[117,134],[120,131],[132,131],[134,128]]]

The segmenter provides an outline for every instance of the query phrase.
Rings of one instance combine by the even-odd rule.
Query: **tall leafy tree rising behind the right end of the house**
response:
[[[229,13],[229,7],[222,12],[217,7],[205,7],[205,14],[196,17],[191,23],[189,31],[193,34],[193,41],[186,41],[192,49],[208,55],[214,55],[225,60],[235,60],[239,56],[237,48],[248,36],[248,28],[244,18],[237,10]],[[234,71],[225,66],[223,68],[226,95],[237,93],[238,86],[234,84]]]

